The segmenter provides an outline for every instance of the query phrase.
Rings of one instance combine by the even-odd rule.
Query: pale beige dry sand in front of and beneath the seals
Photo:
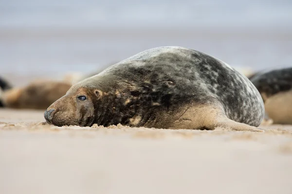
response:
[[[292,194],[292,126],[265,133],[43,125],[0,109],[0,194]]]

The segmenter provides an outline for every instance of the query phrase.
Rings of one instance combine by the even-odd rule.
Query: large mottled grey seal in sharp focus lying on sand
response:
[[[262,131],[263,101],[226,63],[182,47],[138,53],[70,88],[44,113],[57,126],[121,123],[170,129]]]

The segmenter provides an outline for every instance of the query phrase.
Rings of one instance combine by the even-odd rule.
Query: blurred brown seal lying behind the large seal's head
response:
[[[4,91],[1,99],[5,107],[46,109],[66,94],[71,86],[59,81],[35,81],[26,87]]]

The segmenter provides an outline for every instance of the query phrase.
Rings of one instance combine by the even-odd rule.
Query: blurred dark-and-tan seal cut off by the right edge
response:
[[[264,101],[266,119],[292,124],[292,68],[258,72],[249,79]]]

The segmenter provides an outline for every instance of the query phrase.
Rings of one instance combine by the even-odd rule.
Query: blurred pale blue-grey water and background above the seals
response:
[[[91,73],[159,46],[254,71],[292,66],[289,0],[0,2],[0,72],[14,84]]]

